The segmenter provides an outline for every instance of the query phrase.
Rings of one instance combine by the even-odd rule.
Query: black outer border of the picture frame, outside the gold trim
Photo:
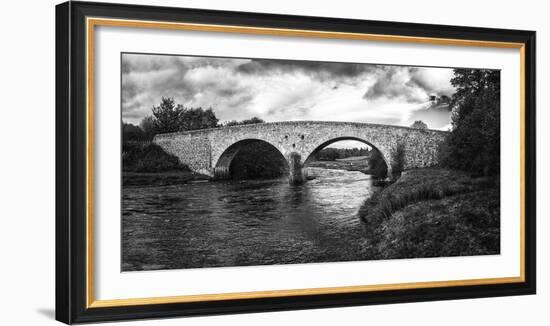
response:
[[[525,45],[525,282],[279,298],[87,308],[86,17],[303,29]],[[536,293],[534,31],[93,2],[56,6],[56,319],[67,323],[265,312]]]

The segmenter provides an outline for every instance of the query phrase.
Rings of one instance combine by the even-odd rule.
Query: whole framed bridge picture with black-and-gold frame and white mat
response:
[[[535,32],[56,7],[56,318],[535,293]]]

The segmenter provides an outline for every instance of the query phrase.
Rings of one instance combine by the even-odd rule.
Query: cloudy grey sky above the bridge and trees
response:
[[[447,129],[452,69],[269,59],[122,55],[122,118],[139,124],[161,98],[212,108],[221,122],[354,121]]]

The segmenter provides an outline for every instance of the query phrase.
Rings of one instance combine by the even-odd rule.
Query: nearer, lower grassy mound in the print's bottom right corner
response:
[[[499,216],[495,190],[413,204],[384,221],[376,252],[382,259],[498,254]]]

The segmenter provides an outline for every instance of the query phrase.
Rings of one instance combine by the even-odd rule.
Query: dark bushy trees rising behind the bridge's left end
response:
[[[131,123],[122,123],[122,138],[126,141],[148,141],[156,134],[188,131],[197,129],[216,128],[221,126],[235,126],[253,123],[263,123],[260,118],[253,117],[242,121],[232,120],[220,124],[212,110],[186,108],[176,104],[173,98],[163,97],[158,106],[153,106],[151,115],[143,118],[139,126]]]

